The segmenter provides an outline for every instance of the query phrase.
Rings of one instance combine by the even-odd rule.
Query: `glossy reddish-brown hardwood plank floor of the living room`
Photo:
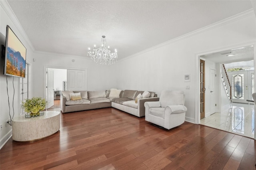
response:
[[[12,139],[0,169],[255,170],[256,141],[185,122],[165,130],[114,108],[61,114],[58,132]]]

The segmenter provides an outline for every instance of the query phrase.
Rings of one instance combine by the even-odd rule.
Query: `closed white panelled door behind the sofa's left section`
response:
[[[86,70],[67,70],[67,90],[87,90]]]

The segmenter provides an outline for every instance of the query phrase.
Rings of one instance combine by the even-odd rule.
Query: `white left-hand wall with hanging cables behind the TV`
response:
[[[6,8],[7,6],[7,8]],[[9,25],[16,36],[20,39],[20,41],[24,44],[27,49],[26,60],[27,62],[31,62],[31,57],[34,55],[33,50],[30,46],[30,42],[27,41],[24,36],[23,30],[20,29],[17,20],[11,19],[12,13],[8,8],[8,4],[5,1],[0,1],[0,44],[5,46],[6,40],[6,25]],[[3,144],[10,138],[12,135],[12,127],[10,125],[5,125],[6,120],[10,119],[9,116],[9,107],[8,107],[8,95],[7,95],[7,83],[6,83],[6,75],[3,75],[3,66],[4,59],[1,58],[0,62],[0,124],[2,125],[2,129],[0,132],[0,148]],[[31,65],[32,66],[32,65]],[[10,101],[10,115],[18,116],[20,115],[20,79],[18,77],[7,77],[8,81],[8,94]],[[14,87],[12,85],[12,81],[14,82]],[[32,85],[32,84],[31,84]],[[14,93],[15,92],[15,93]],[[13,100],[14,95],[14,100]],[[14,103],[14,112],[12,109],[12,103]]]

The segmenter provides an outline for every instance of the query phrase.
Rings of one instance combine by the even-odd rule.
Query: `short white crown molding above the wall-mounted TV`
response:
[[[30,46],[32,51],[35,51],[35,48],[32,45],[31,41],[29,40],[28,35],[26,34],[24,29],[22,28],[20,22],[18,21],[16,15],[14,14],[14,12],[13,12],[12,8],[10,7],[10,5],[8,4],[8,2],[6,0],[0,0],[0,5],[4,9],[6,14],[10,17],[10,19],[12,20],[14,26],[16,26],[18,32],[20,32],[21,36],[24,38],[26,43]]]

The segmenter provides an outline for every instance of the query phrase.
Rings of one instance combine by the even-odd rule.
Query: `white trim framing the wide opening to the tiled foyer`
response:
[[[233,45],[233,46],[226,46],[221,49],[214,49],[212,51],[206,51],[201,53],[196,53],[196,69],[195,69],[195,124],[200,123],[200,57],[202,55],[206,55],[209,53],[216,53],[219,51],[224,51],[228,49],[235,49],[242,46],[248,46],[248,45],[254,45],[254,66],[256,66],[256,42],[248,42],[248,43],[242,43],[239,45]],[[220,65],[218,64],[217,74],[220,74]],[[254,69],[254,75],[256,75],[256,69]],[[256,79],[254,79],[254,84],[256,84]],[[220,88],[218,88],[218,93],[220,93]],[[216,101],[219,105],[221,103],[220,99]],[[256,105],[254,105],[254,111],[256,111]],[[256,112],[254,112],[254,115],[256,115]],[[256,127],[256,116],[254,116],[254,127]],[[256,140],[256,133],[254,133],[254,139]]]

